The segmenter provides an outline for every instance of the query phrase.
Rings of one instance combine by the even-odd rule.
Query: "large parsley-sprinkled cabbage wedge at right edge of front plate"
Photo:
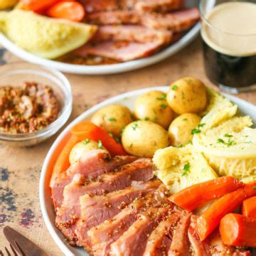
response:
[[[201,132],[193,146],[220,176],[251,181],[256,178],[256,129],[249,116],[238,117],[238,107],[223,100],[201,120]]]

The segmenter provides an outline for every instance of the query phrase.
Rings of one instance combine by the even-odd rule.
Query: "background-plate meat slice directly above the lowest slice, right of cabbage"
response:
[[[159,42],[164,45],[170,43],[171,38],[171,31],[156,30],[137,25],[106,25],[99,27],[92,41]]]

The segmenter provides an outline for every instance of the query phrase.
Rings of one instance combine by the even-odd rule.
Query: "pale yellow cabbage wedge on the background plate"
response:
[[[17,46],[42,58],[58,58],[85,44],[97,26],[15,9],[0,13],[1,31]]]

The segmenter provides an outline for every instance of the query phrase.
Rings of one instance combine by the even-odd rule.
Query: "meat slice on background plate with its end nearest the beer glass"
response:
[[[173,33],[191,28],[200,18],[197,8],[174,11],[170,14],[144,14],[142,25],[153,29],[171,30]]]

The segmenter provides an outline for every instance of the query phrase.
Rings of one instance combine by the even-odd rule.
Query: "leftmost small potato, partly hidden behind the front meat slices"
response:
[[[100,141],[95,142],[90,139],[85,139],[83,142],[78,142],[77,144],[75,144],[75,146],[73,146],[73,149],[71,149],[70,151],[70,164],[75,163],[75,161],[78,161],[80,159],[82,154],[93,149],[105,149],[105,147],[102,146],[102,143]],[[107,149],[105,150],[107,151]]]

